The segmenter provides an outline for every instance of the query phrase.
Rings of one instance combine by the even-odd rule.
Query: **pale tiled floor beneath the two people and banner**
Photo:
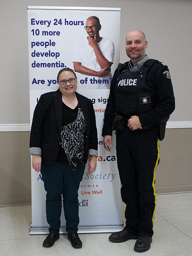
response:
[[[157,196],[153,241],[145,253],[133,250],[136,240],[111,243],[109,233],[79,234],[81,249],[72,248],[66,234],[44,248],[46,235],[29,235],[30,222],[31,206],[0,208],[0,256],[192,256],[192,193]]]

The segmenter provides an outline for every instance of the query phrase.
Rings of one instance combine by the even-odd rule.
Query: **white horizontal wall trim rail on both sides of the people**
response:
[[[167,129],[192,128],[192,121],[167,122]],[[30,123],[6,123],[0,124],[0,131],[30,131]]]

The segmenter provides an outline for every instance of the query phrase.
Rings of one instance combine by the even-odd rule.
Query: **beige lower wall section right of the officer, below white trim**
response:
[[[160,163],[156,170],[157,193],[192,191],[192,129],[167,129],[159,142]]]

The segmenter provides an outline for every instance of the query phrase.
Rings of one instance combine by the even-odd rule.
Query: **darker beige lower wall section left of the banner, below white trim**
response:
[[[0,206],[31,204],[29,131],[0,132]]]

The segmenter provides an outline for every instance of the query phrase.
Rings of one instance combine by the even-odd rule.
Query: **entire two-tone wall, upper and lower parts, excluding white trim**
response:
[[[27,5],[120,7],[121,62],[127,61],[127,32],[143,31],[149,57],[167,63],[170,69],[176,99],[170,121],[192,122],[192,1],[1,0],[0,125],[30,123]],[[166,139],[160,142],[157,193],[192,190],[191,132],[191,128],[167,129]],[[29,131],[0,132],[0,206],[30,203],[29,136]]]

